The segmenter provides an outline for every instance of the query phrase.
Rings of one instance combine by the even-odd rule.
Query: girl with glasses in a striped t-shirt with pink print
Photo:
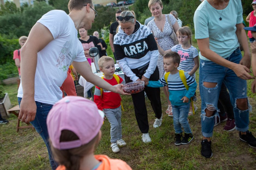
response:
[[[189,27],[181,27],[177,31],[177,37],[179,40],[179,44],[173,46],[171,49],[164,51],[158,44],[158,50],[161,55],[169,53],[170,51],[175,51],[181,57],[181,61],[178,67],[178,70],[184,70],[191,77],[196,80],[196,71],[199,68],[199,57],[198,51],[191,44],[192,31]],[[195,97],[193,97],[195,99]],[[196,105],[194,105],[195,111],[197,109]],[[188,115],[192,115],[192,106],[190,106],[190,111]],[[172,114],[168,114],[168,116],[173,117]]]

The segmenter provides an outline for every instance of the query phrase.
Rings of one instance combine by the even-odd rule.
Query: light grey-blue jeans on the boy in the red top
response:
[[[115,109],[103,109],[108,121],[110,123],[110,142],[116,143],[122,138],[122,124],[121,124],[121,106]]]

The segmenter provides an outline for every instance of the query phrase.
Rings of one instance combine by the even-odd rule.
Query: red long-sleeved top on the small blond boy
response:
[[[120,78],[119,83],[124,84],[123,79],[120,76],[118,76],[118,77]],[[111,80],[107,80],[104,78],[104,80],[106,82],[108,82],[109,84],[111,84],[112,86],[117,85],[117,81],[115,80],[115,77],[113,77]],[[118,93],[110,92],[105,89],[103,89],[102,96],[101,96],[100,88],[95,86],[94,102],[97,104],[97,106],[100,110],[115,109],[121,105],[121,97]]]

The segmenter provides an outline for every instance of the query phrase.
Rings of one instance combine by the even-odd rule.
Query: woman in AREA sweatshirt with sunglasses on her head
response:
[[[133,11],[123,11],[117,17],[120,26],[114,36],[114,49],[117,62],[125,74],[126,83],[140,81],[144,78],[147,85],[149,80],[159,80],[157,68],[158,49],[150,29],[136,21]],[[145,92],[151,102],[156,119],[154,128],[162,124],[162,108],[160,89],[145,87]],[[142,132],[142,141],[151,142],[148,134],[148,115],[145,104],[144,90],[132,94],[136,120]]]

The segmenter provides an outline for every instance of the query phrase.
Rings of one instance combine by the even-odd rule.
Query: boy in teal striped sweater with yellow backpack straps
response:
[[[195,94],[196,81],[188,73],[184,72],[188,90],[182,82],[178,67],[180,63],[180,56],[176,52],[169,52],[163,56],[164,70],[168,73],[167,79],[165,75],[159,81],[149,81],[148,87],[164,87],[169,88],[169,99],[172,102],[173,109],[173,125],[175,129],[175,145],[188,144],[194,138],[191,128],[188,124],[188,112],[190,98]],[[167,82],[166,82],[167,81]],[[182,129],[184,128],[185,136],[182,136]]]

